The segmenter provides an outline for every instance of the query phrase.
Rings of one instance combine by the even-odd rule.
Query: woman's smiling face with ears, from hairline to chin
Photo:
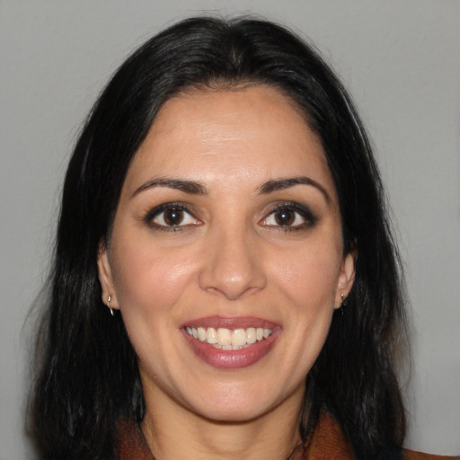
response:
[[[318,138],[267,86],[166,102],[128,169],[103,300],[147,403],[252,420],[302,403],[354,276]]]

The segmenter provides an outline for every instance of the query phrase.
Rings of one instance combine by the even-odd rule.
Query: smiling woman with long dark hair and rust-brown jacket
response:
[[[425,458],[402,450],[376,162],[277,25],[190,19],[119,68],[69,164],[50,291],[45,458]]]

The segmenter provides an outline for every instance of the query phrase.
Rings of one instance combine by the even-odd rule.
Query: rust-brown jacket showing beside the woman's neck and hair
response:
[[[136,424],[120,425],[117,439],[117,459],[154,460],[142,432]],[[339,423],[323,413],[314,435],[308,439],[296,460],[352,460],[353,455]],[[410,450],[404,451],[404,460],[454,460],[460,457],[432,456]]]

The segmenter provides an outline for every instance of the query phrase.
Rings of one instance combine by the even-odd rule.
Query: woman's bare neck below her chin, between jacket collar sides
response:
[[[169,398],[154,399],[146,400],[142,430],[156,460],[286,460],[301,444],[303,387],[267,413],[244,421],[209,420]]]

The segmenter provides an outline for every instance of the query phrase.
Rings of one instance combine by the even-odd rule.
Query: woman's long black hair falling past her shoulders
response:
[[[90,113],[66,173],[49,301],[39,335],[32,420],[44,458],[113,457],[117,420],[140,421],[137,357],[121,317],[102,304],[96,261],[111,235],[133,155],[161,105],[190,87],[268,84],[291,98],[323,143],[356,281],[307,376],[305,439],[320,411],[339,420],[357,459],[399,452],[405,433],[395,375],[404,337],[400,263],[376,161],[353,103],[318,53],[279,25],[194,18],[146,42]]]

